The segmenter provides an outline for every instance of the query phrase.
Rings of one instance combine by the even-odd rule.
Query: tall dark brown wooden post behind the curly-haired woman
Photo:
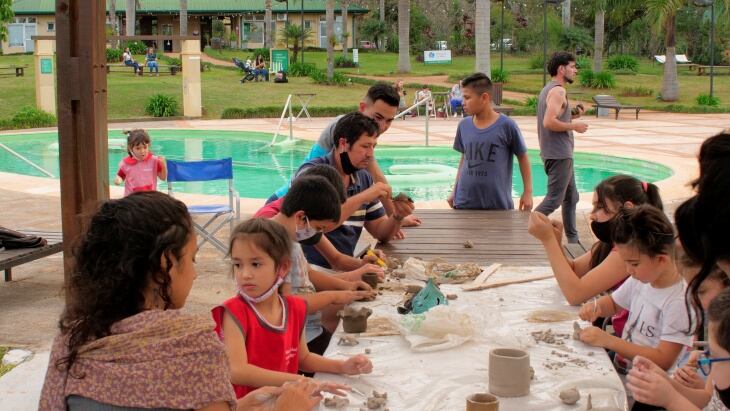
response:
[[[66,283],[73,267],[72,245],[90,213],[109,198],[104,3],[56,0],[58,146]]]

